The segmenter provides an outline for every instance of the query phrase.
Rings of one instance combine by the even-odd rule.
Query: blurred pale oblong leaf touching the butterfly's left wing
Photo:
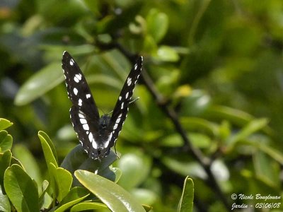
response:
[[[61,57],[61,55],[60,55]],[[60,63],[48,64],[26,81],[15,98],[15,105],[26,105],[64,81]]]

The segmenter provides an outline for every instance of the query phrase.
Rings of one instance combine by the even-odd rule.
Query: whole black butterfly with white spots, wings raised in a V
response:
[[[100,117],[98,107],[81,69],[68,52],[63,53],[62,69],[67,93],[72,103],[71,123],[83,150],[90,158],[94,160],[105,158],[109,155],[110,148],[115,146],[129,111],[134,87],[141,74],[142,61],[143,58],[139,57],[129,72],[112,116],[103,114]]]

